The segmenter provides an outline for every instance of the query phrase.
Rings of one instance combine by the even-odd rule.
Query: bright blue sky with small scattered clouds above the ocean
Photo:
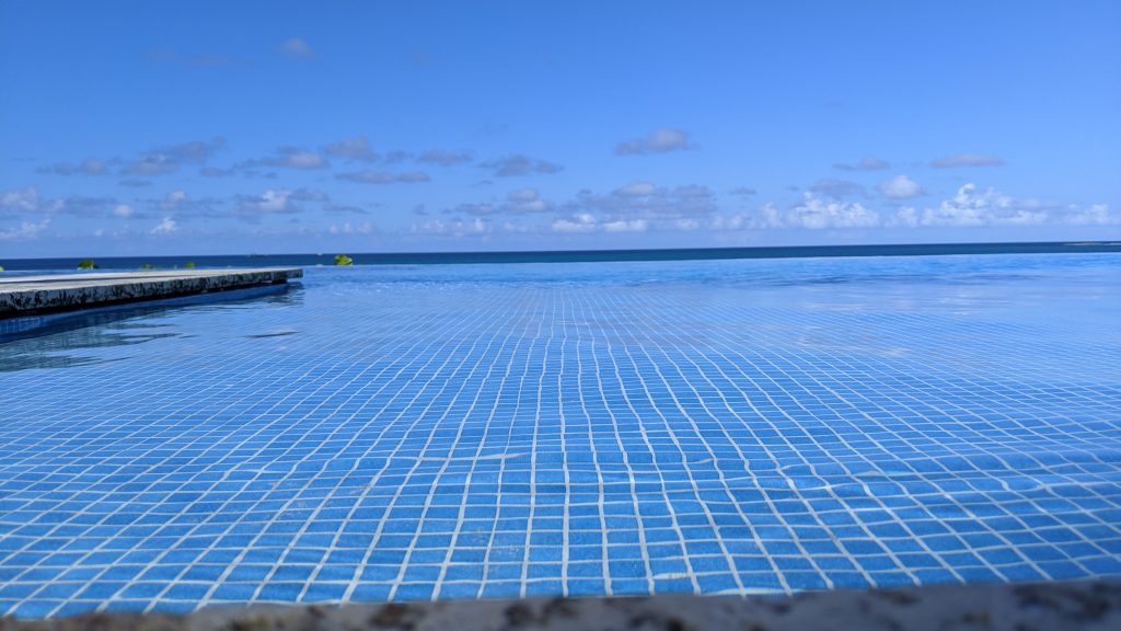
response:
[[[1119,24],[0,0],[0,258],[1117,240]]]

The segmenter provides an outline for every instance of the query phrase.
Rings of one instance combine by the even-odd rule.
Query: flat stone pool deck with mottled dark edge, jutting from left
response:
[[[0,276],[0,319],[286,283],[298,267]]]

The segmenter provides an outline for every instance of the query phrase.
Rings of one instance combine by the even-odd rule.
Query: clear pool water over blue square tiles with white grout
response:
[[[312,268],[0,338],[0,613],[1121,576],[1119,287]]]

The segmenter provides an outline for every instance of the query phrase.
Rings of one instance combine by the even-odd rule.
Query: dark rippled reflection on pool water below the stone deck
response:
[[[298,305],[303,303],[303,293],[296,283],[257,287],[220,301],[214,295],[192,296],[58,314],[34,329],[0,335],[0,373],[118,362],[124,357],[76,351],[192,337],[176,330],[174,323],[160,320],[187,311]]]

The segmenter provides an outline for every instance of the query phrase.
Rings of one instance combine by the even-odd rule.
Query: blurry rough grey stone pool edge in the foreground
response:
[[[793,597],[656,596],[205,609],[185,618],[0,619],[0,631],[1121,629],[1121,582],[946,585]]]

